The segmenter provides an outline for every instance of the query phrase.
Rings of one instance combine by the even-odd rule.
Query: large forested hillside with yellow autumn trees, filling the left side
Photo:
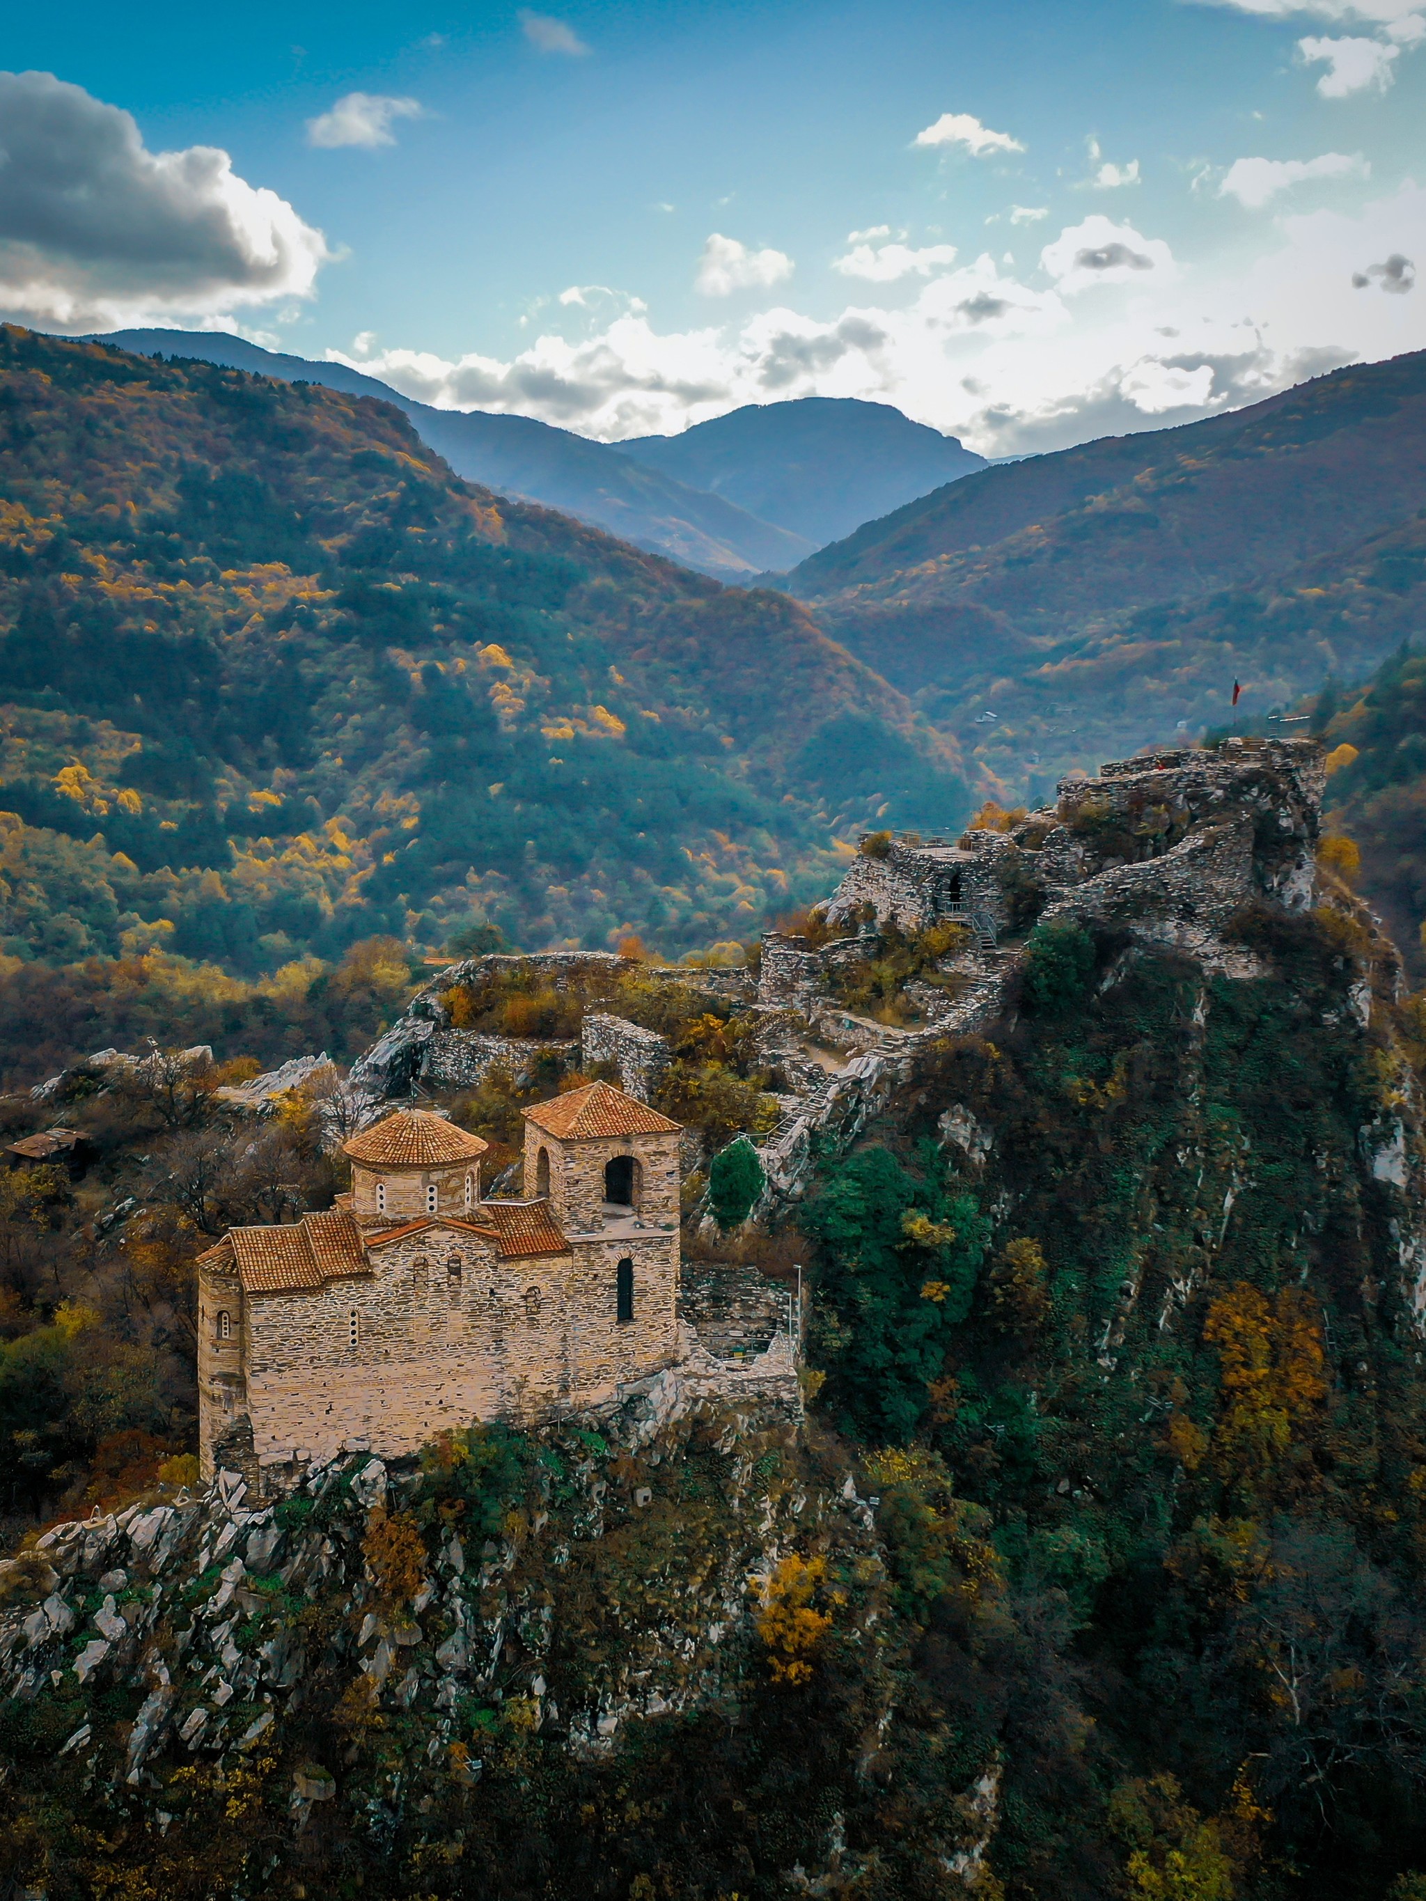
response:
[[[0,950],[238,971],[392,931],[667,949],[953,823],[774,593],[458,481],[365,397],[0,333]]]

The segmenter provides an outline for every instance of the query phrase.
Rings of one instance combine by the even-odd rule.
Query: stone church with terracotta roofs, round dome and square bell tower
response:
[[[487,1144],[397,1110],[352,1190],[198,1258],[203,1477],[281,1481],[346,1441],[414,1452],[472,1420],[599,1405],[677,1363],[679,1123],[605,1082],[525,1110],[525,1194]]]

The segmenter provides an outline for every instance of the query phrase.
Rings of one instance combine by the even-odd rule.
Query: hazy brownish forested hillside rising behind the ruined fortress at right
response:
[[[985,470],[791,576],[1008,787],[1361,677],[1426,603],[1426,355]],[[1183,724],[1181,724],[1183,722]]]

